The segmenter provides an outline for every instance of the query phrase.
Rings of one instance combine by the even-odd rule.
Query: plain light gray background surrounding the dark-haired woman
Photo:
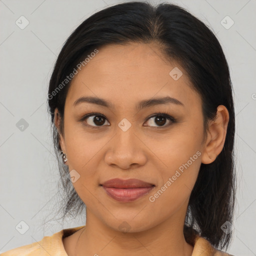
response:
[[[46,111],[47,85],[56,56],[73,29],[94,12],[120,2],[124,1],[0,0],[0,252],[85,222],[82,216],[64,225],[59,220],[43,225],[61,199]],[[228,252],[256,255],[256,0],[169,2],[209,25],[226,55],[234,87],[238,186]],[[24,29],[15,23],[21,15],[29,21]],[[234,21],[228,29],[232,21],[227,15]],[[21,118],[28,127],[20,126]],[[15,229],[21,220],[29,226],[24,234]]]

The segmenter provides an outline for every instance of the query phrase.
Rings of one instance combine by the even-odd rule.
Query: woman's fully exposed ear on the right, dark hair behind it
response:
[[[213,162],[221,152],[225,142],[228,120],[228,110],[224,105],[219,105],[215,119],[209,122],[209,130],[201,158],[202,163]]]

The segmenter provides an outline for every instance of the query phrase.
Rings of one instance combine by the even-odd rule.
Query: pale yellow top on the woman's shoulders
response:
[[[69,236],[84,226],[62,229],[51,236],[44,236],[40,241],[10,249],[1,256],[68,256],[63,246],[62,237]],[[198,235],[194,239],[192,256],[233,256],[216,250],[206,239]]]

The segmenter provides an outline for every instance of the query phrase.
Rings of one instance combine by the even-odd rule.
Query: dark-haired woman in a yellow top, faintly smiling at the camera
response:
[[[98,11],[62,47],[48,107],[64,212],[86,205],[86,223],[3,256],[229,255],[232,86],[201,21],[169,3]]]

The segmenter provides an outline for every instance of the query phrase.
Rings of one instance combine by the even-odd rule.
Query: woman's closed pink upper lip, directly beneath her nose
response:
[[[132,187],[150,187],[154,186],[152,183],[148,183],[136,178],[120,179],[113,178],[105,181],[101,184],[104,187],[116,187],[116,188],[132,188]]]

